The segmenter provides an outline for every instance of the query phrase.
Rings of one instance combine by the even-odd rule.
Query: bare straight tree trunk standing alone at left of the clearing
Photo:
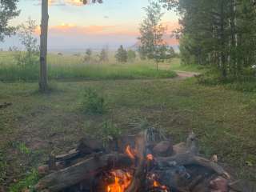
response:
[[[42,0],[42,22],[40,35],[40,75],[39,90],[45,92],[47,85],[47,36],[48,36],[48,0]]]

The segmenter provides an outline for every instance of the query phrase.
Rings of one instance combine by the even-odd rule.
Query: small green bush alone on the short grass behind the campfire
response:
[[[106,112],[105,99],[96,90],[87,88],[82,98],[82,109],[88,114],[103,114]]]

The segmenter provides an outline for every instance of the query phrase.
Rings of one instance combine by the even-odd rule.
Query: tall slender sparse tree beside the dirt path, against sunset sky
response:
[[[150,2],[150,5],[144,8],[146,18],[143,20],[139,31],[141,36],[138,38],[141,42],[139,52],[146,58],[154,59],[158,70],[158,62],[166,59],[166,43],[162,36],[166,32],[166,27],[162,26],[162,9],[158,2]]]

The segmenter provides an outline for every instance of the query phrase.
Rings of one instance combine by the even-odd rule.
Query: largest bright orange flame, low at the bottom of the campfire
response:
[[[111,174],[114,176],[114,183],[106,187],[106,192],[125,192],[128,186],[130,186],[131,175],[122,170],[114,170]]]

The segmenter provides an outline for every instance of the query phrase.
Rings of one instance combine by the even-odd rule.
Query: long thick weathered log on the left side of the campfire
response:
[[[58,170],[39,180],[36,190],[60,191],[79,182],[88,182],[102,170],[122,169],[132,165],[130,158],[124,154],[106,154],[88,158],[64,170]]]

